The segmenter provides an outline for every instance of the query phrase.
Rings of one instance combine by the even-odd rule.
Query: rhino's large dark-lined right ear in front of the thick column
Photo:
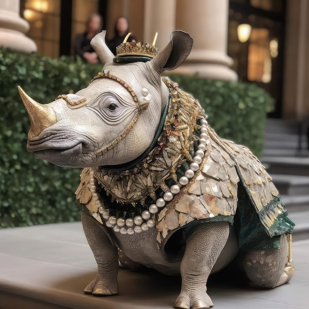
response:
[[[189,56],[193,39],[183,31],[173,31],[170,42],[154,57],[151,64],[154,70],[162,73],[179,67]]]

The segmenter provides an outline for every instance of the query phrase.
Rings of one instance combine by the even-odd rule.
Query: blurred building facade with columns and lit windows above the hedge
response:
[[[256,82],[275,98],[270,116],[309,114],[308,0],[3,0],[0,44],[24,52],[37,45],[53,58],[73,54],[74,39],[94,12],[103,16],[108,38],[119,16],[138,41],[150,42],[158,32],[159,48],[173,30],[187,31],[193,50],[175,73]]]

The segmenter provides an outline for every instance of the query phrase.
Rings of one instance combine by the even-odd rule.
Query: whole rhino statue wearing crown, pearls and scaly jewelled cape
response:
[[[236,256],[252,286],[289,282],[294,224],[271,177],[247,148],[218,137],[190,94],[161,77],[187,58],[193,39],[175,31],[154,57],[144,55],[154,46],[124,44],[132,55],[114,58],[105,31],[92,39],[103,70],[76,94],[42,105],[19,87],[31,119],[28,151],[83,168],[77,205],[98,265],[84,292],[117,294],[118,259],[181,274],[175,308],[212,307],[208,276]],[[134,57],[134,48],[145,52]]]

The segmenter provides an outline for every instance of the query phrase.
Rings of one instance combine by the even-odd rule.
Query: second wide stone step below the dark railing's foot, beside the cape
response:
[[[271,177],[280,194],[309,196],[309,176],[271,174]]]

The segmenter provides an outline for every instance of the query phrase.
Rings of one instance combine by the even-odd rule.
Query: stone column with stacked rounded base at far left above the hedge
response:
[[[18,52],[37,50],[36,43],[26,37],[29,23],[19,16],[19,0],[0,1],[0,46]]]

